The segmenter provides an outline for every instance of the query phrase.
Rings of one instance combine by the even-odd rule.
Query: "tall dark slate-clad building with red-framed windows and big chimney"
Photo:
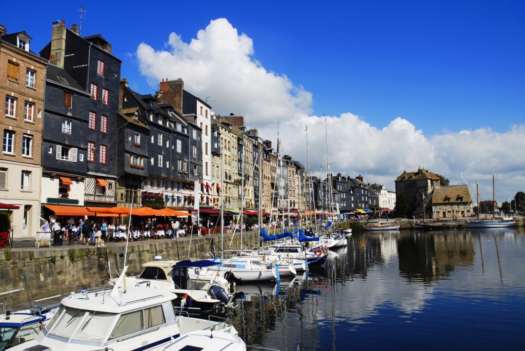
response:
[[[57,165],[56,161],[66,159],[76,165],[65,169],[81,172],[81,168],[84,167],[82,176],[77,177],[77,181],[83,179],[83,201],[79,205],[115,206],[115,131],[119,110],[121,60],[111,54],[111,45],[101,35],[80,37],[76,25],[67,29],[63,21],[53,23],[51,41],[40,51],[40,56],[49,58],[51,65],[63,68],[82,90],[89,94],[87,100],[73,100],[70,107],[78,111],[73,116],[75,121],[85,123],[79,131],[71,125],[70,133],[67,133],[69,126],[67,122],[64,124],[64,118],[49,113],[50,126],[56,128],[58,123],[65,125],[63,130],[66,131],[65,134],[71,134],[71,137],[62,135],[63,138],[59,140],[63,144],[57,143],[56,146],[60,150],[60,159],[48,160],[49,163],[44,166],[62,168],[64,166]],[[53,105],[66,103],[66,98],[60,98],[59,94],[51,98],[53,100],[46,99],[49,111],[54,109]],[[58,157],[58,150],[55,153]],[[62,168],[62,171],[65,169]]]

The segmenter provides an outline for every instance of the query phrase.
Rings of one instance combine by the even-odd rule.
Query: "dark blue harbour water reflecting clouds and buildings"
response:
[[[523,228],[354,233],[323,269],[239,286],[232,324],[283,351],[521,350],[524,268]]]

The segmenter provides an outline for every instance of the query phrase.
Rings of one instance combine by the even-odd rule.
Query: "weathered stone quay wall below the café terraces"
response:
[[[240,248],[240,234],[223,237],[224,250]],[[230,241],[232,241],[230,246]],[[258,233],[243,233],[243,248],[258,246]],[[219,235],[193,238],[149,239],[128,243],[126,264],[127,275],[137,275],[141,265],[153,261],[155,256],[162,259],[184,260],[188,256],[211,259],[212,253],[220,256],[221,238]],[[78,242],[61,247],[19,248],[0,252],[0,292],[23,288],[7,297],[9,305],[17,305],[30,300],[43,299],[59,294],[69,294],[82,288],[101,286],[107,280],[117,277],[124,264],[125,242],[107,242],[106,247],[84,246]],[[188,251],[189,250],[189,251]],[[188,255],[189,252],[189,255]]]

